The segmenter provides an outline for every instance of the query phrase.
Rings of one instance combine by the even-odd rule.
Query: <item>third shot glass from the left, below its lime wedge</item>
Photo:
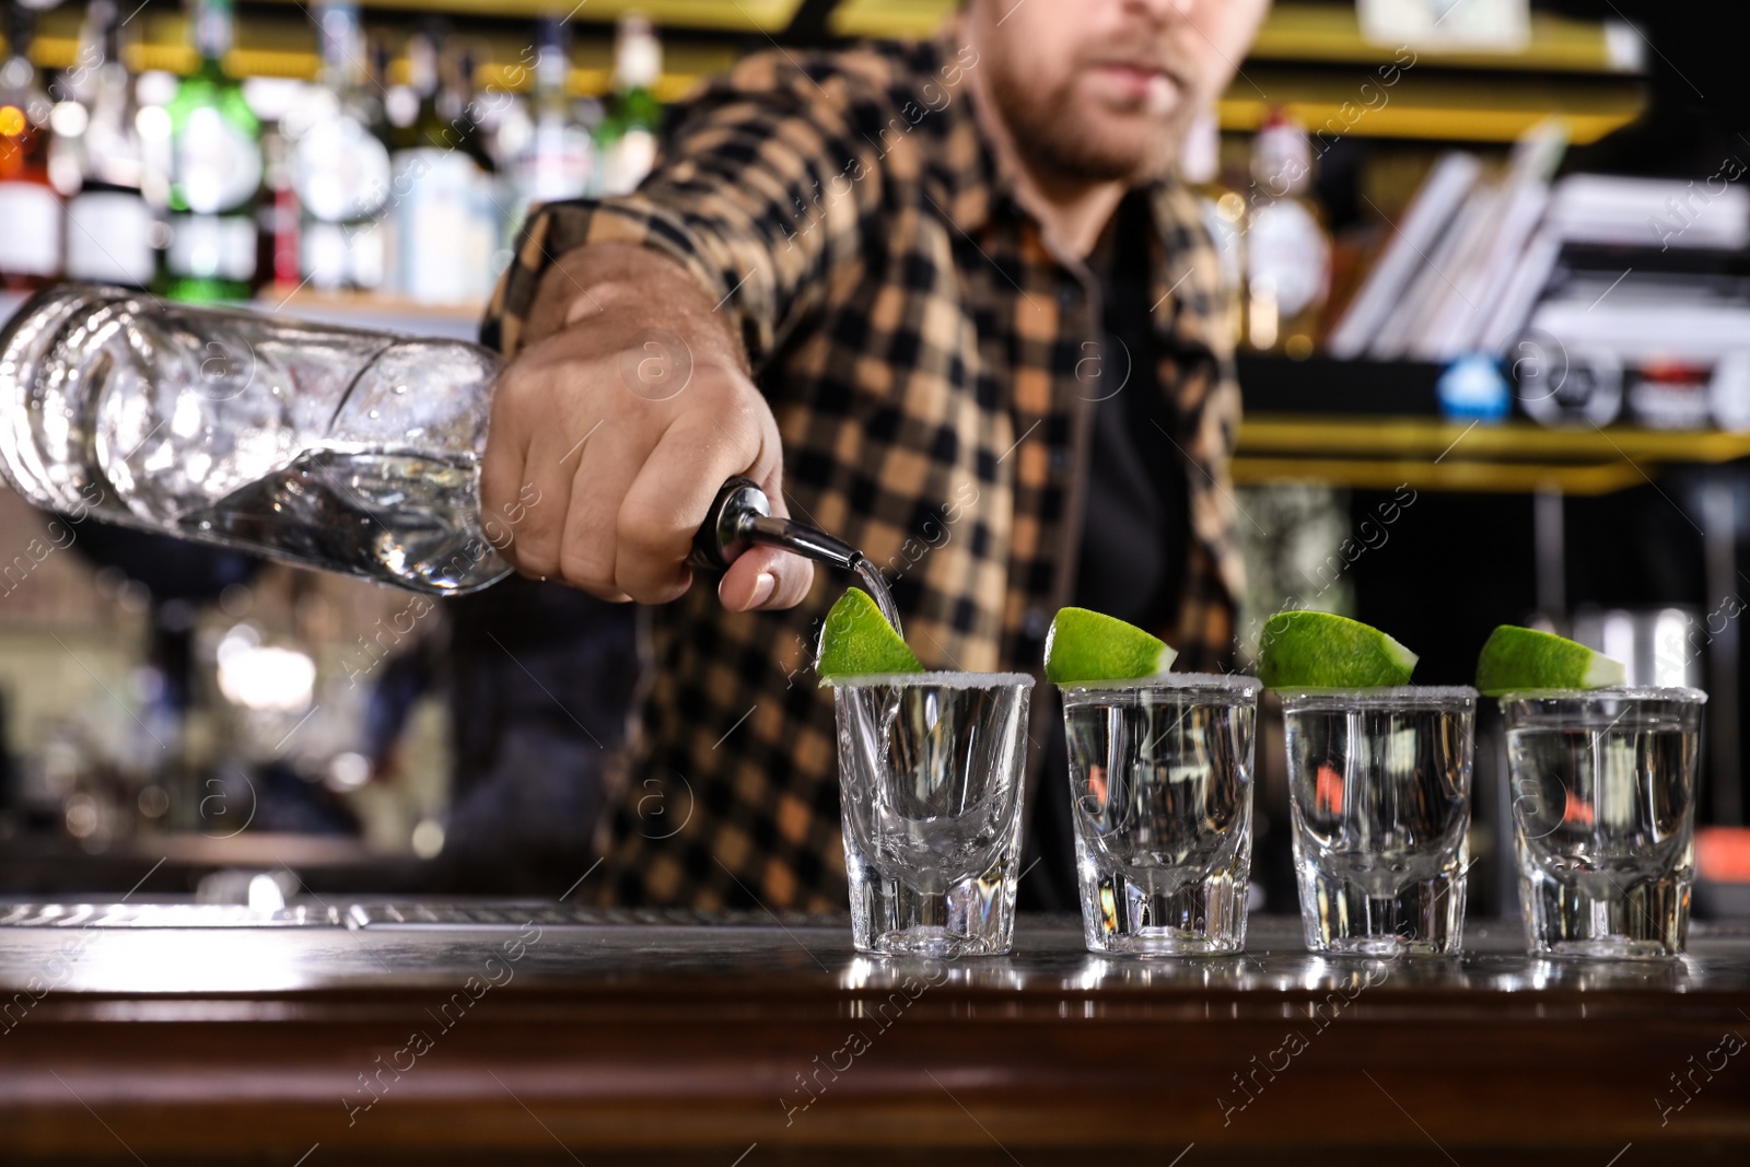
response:
[[[1463,947],[1477,691],[1283,693],[1300,929],[1334,955]]]

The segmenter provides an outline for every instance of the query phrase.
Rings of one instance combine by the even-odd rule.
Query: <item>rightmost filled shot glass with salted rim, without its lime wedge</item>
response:
[[[1675,688],[1502,696],[1528,952],[1684,954],[1706,700]]]

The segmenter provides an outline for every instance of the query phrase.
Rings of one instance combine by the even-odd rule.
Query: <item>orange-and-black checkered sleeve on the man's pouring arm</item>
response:
[[[570,248],[634,243],[676,259],[766,357],[863,254],[875,150],[852,110],[872,87],[822,58],[747,58],[674,112],[635,194],[550,203],[528,220],[481,339],[514,355],[541,276]]]

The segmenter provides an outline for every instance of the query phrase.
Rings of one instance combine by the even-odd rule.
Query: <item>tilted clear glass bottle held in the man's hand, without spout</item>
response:
[[[481,521],[476,345],[61,283],[0,371],[0,472],[40,507],[455,595],[539,506]]]

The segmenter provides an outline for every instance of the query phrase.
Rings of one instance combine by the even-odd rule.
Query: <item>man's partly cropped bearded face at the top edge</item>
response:
[[[1040,178],[1160,170],[1232,80],[1269,0],[973,0],[978,68]]]

